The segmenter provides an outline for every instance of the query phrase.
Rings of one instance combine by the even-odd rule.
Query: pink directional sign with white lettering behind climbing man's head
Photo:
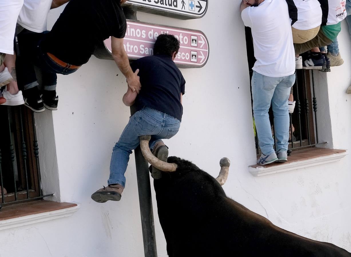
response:
[[[130,60],[153,55],[153,45],[158,35],[168,33],[180,41],[180,48],[174,62],[180,68],[201,68],[208,59],[208,41],[201,31],[166,27],[140,21],[127,20],[124,48]],[[104,41],[111,53],[111,39]]]

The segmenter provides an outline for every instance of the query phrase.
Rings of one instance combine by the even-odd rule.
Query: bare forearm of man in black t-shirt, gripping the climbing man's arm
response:
[[[135,73],[133,73],[129,64],[128,55],[124,50],[123,39],[111,36],[111,48],[113,60],[116,62],[123,75],[127,78],[128,86],[133,92],[136,91],[139,93],[141,88],[140,78],[138,76],[139,69],[135,70]]]

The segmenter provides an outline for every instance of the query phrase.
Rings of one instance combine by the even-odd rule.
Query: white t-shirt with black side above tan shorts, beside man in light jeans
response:
[[[322,23],[322,9],[318,0],[293,0],[297,8],[297,21],[293,28],[307,30]]]

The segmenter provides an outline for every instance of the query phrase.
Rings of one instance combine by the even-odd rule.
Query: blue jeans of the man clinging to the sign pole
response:
[[[124,176],[132,150],[140,144],[139,136],[151,135],[149,147],[152,150],[155,143],[161,139],[169,139],[176,135],[180,127],[180,121],[168,114],[155,109],[144,107],[137,111],[132,117],[121,137],[113,147],[110,164],[111,184],[121,184],[125,187],[126,178]]]

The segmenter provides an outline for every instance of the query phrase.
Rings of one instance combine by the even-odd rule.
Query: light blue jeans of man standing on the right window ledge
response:
[[[289,108],[288,102],[290,89],[295,83],[295,74],[285,77],[269,77],[253,72],[252,107],[257,129],[258,143],[261,152],[269,155],[274,152],[274,140],[269,121],[269,108],[272,104],[274,114],[274,137],[277,149],[287,151],[289,141]]]

